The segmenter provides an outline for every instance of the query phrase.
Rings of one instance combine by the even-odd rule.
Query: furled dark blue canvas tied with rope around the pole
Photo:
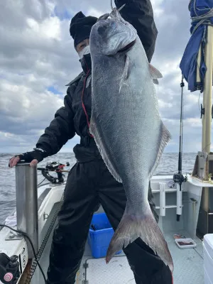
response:
[[[204,62],[205,45],[207,44],[207,26],[213,26],[213,1],[191,0],[189,4],[192,26],[191,37],[180,62],[182,75],[191,92],[203,92],[204,76],[207,66]],[[200,52],[200,60],[197,61]],[[197,80],[197,71],[200,73]]]

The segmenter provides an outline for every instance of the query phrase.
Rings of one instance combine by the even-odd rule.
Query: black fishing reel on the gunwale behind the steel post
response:
[[[42,175],[49,181],[55,184],[64,182],[64,176],[62,172],[64,171],[65,166],[69,166],[70,163],[66,163],[66,165],[63,165],[58,162],[48,162],[45,166],[45,168],[38,168],[38,170],[41,171]],[[57,173],[57,178],[53,177],[53,175],[50,175],[50,172]]]

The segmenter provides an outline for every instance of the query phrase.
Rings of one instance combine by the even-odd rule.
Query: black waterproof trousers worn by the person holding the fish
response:
[[[102,160],[77,163],[68,175],[64,202],[58,214],[58,226],[53,234],[49,284],[75,283],[92,215],[99,204],[102,204],[115,230],[126,205],[124,187],[114,180]],[[153,203],[150,204],[153,209]],[[158,215],[155,217],[158,218]],[[172,283],[168,266],[141,239],[127,246],[124,253],[137,284]]]

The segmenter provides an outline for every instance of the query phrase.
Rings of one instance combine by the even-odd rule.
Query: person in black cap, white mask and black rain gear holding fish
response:
[[[150,0],[115,0],[121,16],[136,28],[151,62],[155,49],[157,29]],[[91,116],[91,58],[89,34],[97,18],[77,13],[70,23],[70,35],[80,56],[82,72],[67,86],[64,107],[55,113],[55,119],[40,136],[31,152],[16,155],[9,161],[13,167],[19,160],[35,166],[50,155],[58,153],[77,133],[80,144],[73,151],[77,163],[70,170],[65,186],[64,200],[58,214],[58,226],[53,234],[48,268],[48,284],[74,284],[80,268],[92,215],[102,204],[111,226],[116,229],[126,206],[126,195],[121,183],[116,182],[99,154],[94,138],[89,133]],[[148,200],[158,222],[152,202],[151,187]],[[140,239],[124,249],[137,284],[172,284],[168,266]]]

